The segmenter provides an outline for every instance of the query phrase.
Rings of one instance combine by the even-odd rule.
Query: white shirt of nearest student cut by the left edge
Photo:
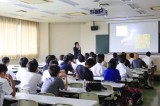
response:
[[[10,95],[13,92],[13,90],[12,90],[11,86],[9,85],[8,80],[0,77],[0,82],[3,83],[2,90],[4,91],[4,93],[6,95]]]

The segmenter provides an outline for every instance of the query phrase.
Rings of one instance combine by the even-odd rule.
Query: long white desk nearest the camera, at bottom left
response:
[[[25,93],[16,93],[16,96],[5,95],[6,100],[33,100],[38,103],[43,104],[71,104],[73,106],[94,106],[97,102],[93,100],[82,100],[82,99],[72,99],[72,98],[63,98],[63,97],[54,97],[54,96],[44,96],[36,94],[25,94]]]

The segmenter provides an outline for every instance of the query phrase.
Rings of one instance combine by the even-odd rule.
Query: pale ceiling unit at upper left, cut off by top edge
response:
[[[27,4],[43,4],[51,2],[51,0],[19,0],[19,1]]]

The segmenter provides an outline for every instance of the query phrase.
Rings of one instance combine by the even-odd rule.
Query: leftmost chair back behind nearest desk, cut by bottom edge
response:
[[[38,103],[32,100],[19,100],[18,106],[38,106]]]

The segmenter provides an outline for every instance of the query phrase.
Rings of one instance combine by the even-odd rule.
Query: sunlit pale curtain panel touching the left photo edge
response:
[[[0,57],[17,58],[18,20],[0,17]]]

